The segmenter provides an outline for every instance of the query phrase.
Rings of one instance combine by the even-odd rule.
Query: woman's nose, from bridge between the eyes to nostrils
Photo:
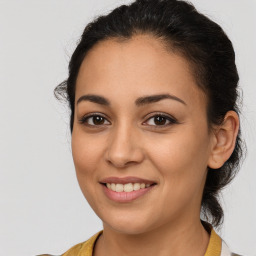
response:
[[[139,137],[141,137],[139,132],[130,126],[116,127],[109,138],[106,161],[116,168],[125,168],[141,163],[144,153]]]

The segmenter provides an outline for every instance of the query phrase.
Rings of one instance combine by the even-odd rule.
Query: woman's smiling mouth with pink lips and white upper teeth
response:
[[[137,177],[109,177],[102,181],[105,195],[115,202],[131,202],[149,192],[156,182]]]

